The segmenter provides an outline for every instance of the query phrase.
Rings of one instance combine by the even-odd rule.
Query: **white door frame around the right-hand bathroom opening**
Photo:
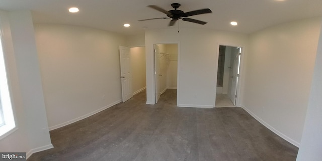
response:
[[[238,78],[238,83],[237,83],[237,98],[236,98],[236,107],[240,107],[240,94],[241,94],[241,84],[244,80],[243,77],[243,62],[244,62],[244,57],[245,57],[245,47],[243,45],[238,45],[238,44],[226,44],[226,43],[218,43],[217,44],[217,52],[216,52],[216,60],[215,60],[215,87],[214,87],[214,94],[216,96],[217,92],[217,75],[218,75],[218,59],[219,59],[219,47],[220,46],[231,46],[231,47],[240,47],[241,48],[241,56],[240,56],[240,63],[239,63],[239,78]],[[216,97],[214,98],[214,107],[216,106]]]

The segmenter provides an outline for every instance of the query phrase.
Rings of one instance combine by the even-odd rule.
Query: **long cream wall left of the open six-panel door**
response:
[[[121,101],[119,45],[126,44],[123,36],[49,24],[35,24],[35,35],[50,129]]]

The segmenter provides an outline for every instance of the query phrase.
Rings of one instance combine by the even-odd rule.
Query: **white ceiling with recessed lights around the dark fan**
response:
[[[203,8],[212,10],[211,14],[189,17],[207,24],[179,20],[180,28],[252,33],[287,21],[322,16],[322,0],[0,0],[0,9],[31,10],[35,23],[71,24],[137,34],[144,32],[143,27],[178,28],[178,22],[172,27],[167,26],[170,19],[137,21],[165,17],[164,13],[147,5],[172,10],[171,3],[180,3],[179,10],[184,12]],[[78,7],[80,11],[69,13],[69,7]],[[238,26],[231,26],[230,21],[237,21]],[[131,27],[123,27],[125,23]]]

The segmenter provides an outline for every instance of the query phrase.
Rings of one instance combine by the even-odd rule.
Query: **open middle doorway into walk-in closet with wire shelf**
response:
[[[155,103],[166,90],[177,92],[178,44],[154,44]]]

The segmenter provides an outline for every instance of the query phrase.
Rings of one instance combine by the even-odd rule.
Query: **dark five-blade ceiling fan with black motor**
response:
[[[160,8],[156,5],[149,5],[148,7],[155,9],[157,11],[163,12],[165,13],[168,17],[160,17],[160,18],[152,18],[152,19],[144,19],[144,20],[139,20],[139,21],[146,21],[146,20],[154,20],[154,19],[172,19],[170,21],[170,23],[168,24],[168,26],[173,26],[177,20],[181,19],[183,21],[189,21],[189,22],[193,22],[193,23],[197,23],[197,24],[201,24],[204,25],[207,22],[204,21],[200,21],[200,20],[196,20],[196,19],[191,19],[191,18],[187,18],[189,16],[193,16],[193,15],[200,15],[200,14],[206,14],[206,13],[212,13],[212,11],[208,8],[205,9],[200,9],[200,10],[194,10],[194,11],[189,11],[189,12],[183,12],[181,10],[177,10],[177,8],[179,8],[181,5],[178,3],[172,3],[171,6],[174,8],[174,10],[165,10],[163,8]]]

